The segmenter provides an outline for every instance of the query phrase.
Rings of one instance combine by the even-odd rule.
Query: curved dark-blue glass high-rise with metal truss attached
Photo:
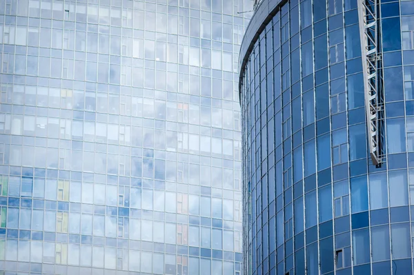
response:
[[[414,2],[259,2],[239,61],[245,274],[413,274]]]

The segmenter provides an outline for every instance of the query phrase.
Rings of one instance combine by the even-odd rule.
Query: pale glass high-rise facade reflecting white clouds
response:
[[[252,6],[0,0],[1,275],[242,274]]]

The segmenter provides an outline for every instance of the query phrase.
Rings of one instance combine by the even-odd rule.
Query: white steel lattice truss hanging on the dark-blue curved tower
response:
[[[384,157],[384,89],[379,1],[357,1],[368,143],[373,165],[381,165]]]

